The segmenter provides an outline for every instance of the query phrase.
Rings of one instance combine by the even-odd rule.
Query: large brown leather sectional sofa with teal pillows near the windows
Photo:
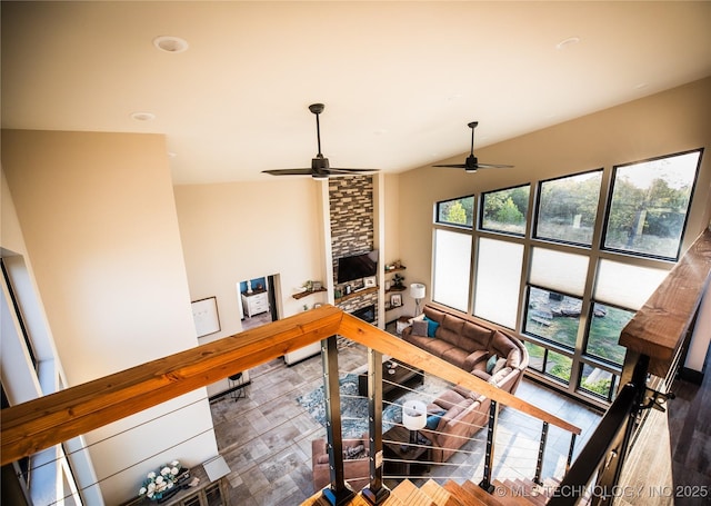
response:
[[[515,393],[529,364],[528,350],[520,339],[432,305],[424,306],[423,315],[429,320],[428,329],[423,330],[415,319],[402,331],[402,339],[503,390]],[[421,433],[432,441],[432,460],[447,462],[484,427],[490,405],[491,399],[462,387],[448,389],[431,403],[428,406],[431,418]]]

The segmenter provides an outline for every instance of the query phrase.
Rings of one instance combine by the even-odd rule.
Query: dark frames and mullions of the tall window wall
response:
[[[673,157],[673,156],[684,155],[684,153],[694,153],[694,152],[700,153],[699,162],[695,168],[693,185],[690,191],[687,212],[683,220],[683,228],[681,230],[681,235],[679,239],[680,251],[684,242],[684,237],[687,237],[687,232],[688,232],[687,228],[689,226],[691,211],[694,208],[694,205],[698,207],[698,202],[694,202],[694,198],[697,198],[695,187],[698,185],[699,177],[700,177],[703,148],[692,149],[692,150],[682,151],[682,152],[674,152],[669,155],[661,155],[659,157],[649,159],[649,160],[664,159],[668,157]],[[645,160],[640,160],[640,161],[645,161]],[[604,357],[598,357],[595,355],[590,355],[587,353],[588,345],[589,345],[590,326],[592,324],[591,320],[593,318],[592,315],[594,310],[594,305],[602,304],[607,307],[615,307],[619,309],[630,310],[629,308],[622,307],[620,305],[610,304],[605,301],[597,301],[595,286],[597,286],[597,278],[600,272],[599,269],[600,269],[601,260],[618,261],[618,262],[622,262],[622,264],[634,266],[634,267],[657,268],[667,272],[671,270],[675,265],[675,261],[673,261],[673,259],[669,259],[665,257],[639,255],[630,251],[611,250],[611,249],[603,248],[604,237],[605,237],[607,227],[608,227],[609,208],[611,206],[612,196],[613,196],[612,182],[613,182],[613,177],[617,175],[615,168],[624,167],[632,163],[637,163],[637,162],[622,163],[622,165],[605,165],[601,169],[571,171],[571,173],[561,175],[561,176],[549,178],[545,180],[537,180],[534,178],[531,178],[530,181],[522,185],[507,186],[501,189],[491,189],[488,191],[481,191],[479,194],[479,198],[474,196],[474,210],[477,216],[477,226],[471,229],[469,227],[461,227],[455,224],[451,225],[448,222],[438,222],[437,220],[434,220],[433,222],[433,229],[449,229],[452,231],[460,231],[461,234],[465,234],[471,238],[472,249],[471,249],[470,271],[469,271],[471,290],[470,290],[468,309],[467,311],[462,311],[462,312],[467,312],[468,315],[471,315],[480,319],[482,318],[477,317],[474,315],[474,308],[477,302],[475,286],[479,277],[479,272],[478,272],[479,254],[480,254],[479,240],[481,238],[489,238],[489,239],[500,239],[509,242],[518,242],[523,245],[523,270],[521,272],[521,281],[520,281],[520,289],[519,289],[519,310],[515,317],[515,328],[512,328],[511,330],[517,337],[519,337],[527,345],[540,347],[543,350],[542,357],[540,359],[537,358],[537,361],[541,363],[542,369],[539,370],[535,367],[530,366],[527,369],[527,375],[542,383],[550,384],[553,388],[562,391],[565,395],[580,398],[585,403],[589,403],[591,405],[594,405],[601,408],[603,408],[605,404],[609,404],[609,401],[612,400],[617,395],[615,388],[619,388],[619,385],[620,385],[622,366],[619,364],[614,364],[611,360],[607,360]],[[598,207],[594,214],[594,226],[593,226],[591,244],[581,245],[578,242],[571,242],[565,240],[537,237],[538,220],[540,219],[539,209],[540,209],[540,197],[542,195],[542,183],[545,181],[564,179],[568,177],[574,177],[578,175],[597,172],[597,171],[601,171],[601,182],[600,182],[600,190],[598,196]],[[525,217],[525,230],[527,230],[525,235],[512,234],[512,232],[482,227],[483,199],[485,198],[484,197],[485,195],[493,194],[497,191],[503,191],[512,188],[525,187],[525,186],[529,186],[530,188],[529,207],[528,207],[529,212]],[[471,196],[467,196],[467,197],[471,197]],[[447,199],[443,201],[450,201],[450,200],[455,200],[455,199]],[[432,237],[432,239],[434,239],[434,237]],[[564,290],[561,290],[559,287],[558,288],[547,287],[545,282],[543,282],[542,284],[543,286],[541,286],[541,279],[539,279],[537,284],[531,282],[530,275],[532,271],[533,252],[535,248],[548,248],[559,252],[583,255],[588,258],[588,270],[584,275],[584,286],[580,295],[565,294]],[[437,275],[434,270],[435,270],[434,265],[432,265],[432,277]],[[581,315],[579,317],[578,334],[575,336],[574,347],[571,348],[568,345],[561,345],[545,337],[525,333],[525,324],[527,324],[528,311],[529,311],[528,304],[530,300],[531,286],[547,290],[547,291],[560,292],[564,296],[570,296],[575,299],[582,300]],[[438,302],[438,304],[441,304],[441,302]],[[455,310],[461,311],[461,309],[455,309]],[[500,325],[500,324],[494,323],[494,325]],[[538,348],[534,348],[534,349],[538,349]],[[550,361],[550,356],[549,356],[550,353],[561,354],[571,360],[570,378],[568,383],[565,383],[563,379],[554,375],[547,373],[547,369],[550,367],[550,365],[548,364]],[[610,388],[610,391],[608,391],[607,398],[604,395],[600,395],[599,393],[592,391],[582,386],[582,381],[583,381],[582,378],[583,378],[585,366],[598,368],[612,375],[613,379],[611,381],[611,388]]]

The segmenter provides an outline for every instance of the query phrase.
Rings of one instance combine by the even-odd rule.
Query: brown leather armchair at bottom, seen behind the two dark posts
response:
[[[311,441],[311,466],[313,490],[318,492],[331,483],[326,439]],[[370,483],[370,443],[368,436],[363,436],[360,439],[343,439],[343,474],[346,482],[356,492]]]

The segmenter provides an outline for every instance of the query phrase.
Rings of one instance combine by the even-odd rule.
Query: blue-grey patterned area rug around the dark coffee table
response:
[[[358,395],[358,374],[349,373],[339,378],[341,393],[341,434],[344,438],[357,438],[368,433],[368,398]],[[425,404],[434,400],[449,384],[443,379],[425,376],[424,381],[393,403],[383,403],[382,431],[402,423],[402,403],[417,398]],[[319,424],[326,427],[326,403],[323,386],[297,398],[297,401]]]

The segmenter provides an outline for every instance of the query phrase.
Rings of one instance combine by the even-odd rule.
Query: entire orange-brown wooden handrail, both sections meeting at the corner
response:
[[[333,306],[323,306],[40,397],[0,414],[6,465],[289,351],[341,335],[551,425],[580,428]]]

